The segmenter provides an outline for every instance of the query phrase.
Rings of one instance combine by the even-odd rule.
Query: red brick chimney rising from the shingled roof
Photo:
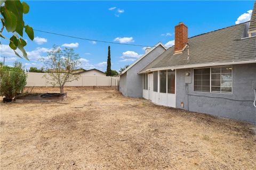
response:
[[[174,53],[181,53],[183,47],[188,43],[188,27],[180,22],[175,26]]]

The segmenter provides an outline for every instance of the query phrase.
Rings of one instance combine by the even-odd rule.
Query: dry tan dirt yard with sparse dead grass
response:
[[[1,169],[256,169],[251,124],[65,90],[63,103],[1,103]]]

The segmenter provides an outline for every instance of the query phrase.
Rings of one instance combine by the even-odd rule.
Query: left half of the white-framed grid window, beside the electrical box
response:
[[[194,70],[194,91],[210,92],[210,68]]]

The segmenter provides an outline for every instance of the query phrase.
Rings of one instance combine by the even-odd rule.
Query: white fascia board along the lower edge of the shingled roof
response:
[[[173,67],[161,67],[161,68],[155,68],[155,69],[148,69],[143,72],[139,72],[139,74],[147,73],[147,72],[151,72],[151,71],[160,71],[160,70],[189,69],[189,68],[196,68],[196,67],[234,65],[234,64],[250,64],[250,63],[256,63],[256,60],[233,61],[233,62],[224,62],[224,63],[191,64],[191,65],[182,65],[182,66],[173,66]]]

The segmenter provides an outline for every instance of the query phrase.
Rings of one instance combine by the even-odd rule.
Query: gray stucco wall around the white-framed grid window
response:
[[[185,73],[191,73],[191,83],[188,84],[188,94],[199,95],[191,96],[186,94]],[[181,108],[181,102],[184,108],[193,112],[207,113],[216,116],[234,118],[237,120],[255,123],[256,108],[253,101],[235,101],[235,100],[254,100],[252,90],[252,81],[256,80],[256,64],[233,65],[233,93],[217,94],[210,92],[193,91],[193,69],[177,70],[177,95],[176,107]],[[209,96],[209,97],[207,97]],[[211,98],[211,97],[224,97]],[[235,99],[235,100],[230,100]]]

